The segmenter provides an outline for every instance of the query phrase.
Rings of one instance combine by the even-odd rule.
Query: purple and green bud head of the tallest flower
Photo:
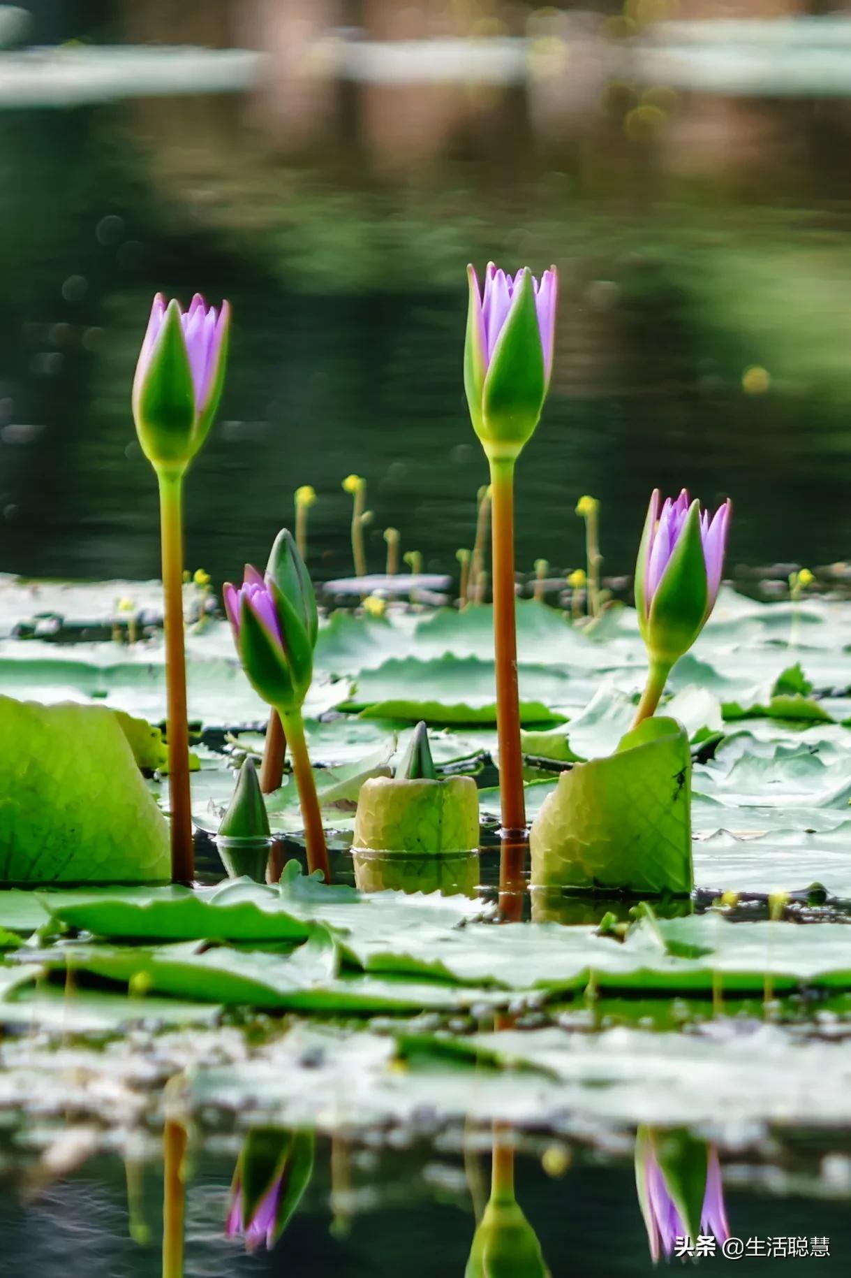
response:
[[[557,273],[540,285],[529,267],[514,276],[488,265],[484,294],[468,267],[470,304],[464,386],[473,428],[492,460],[514,460],[538,424],[552,372]]]

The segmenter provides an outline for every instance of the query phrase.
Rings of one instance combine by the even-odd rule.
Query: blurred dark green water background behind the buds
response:
[[[851,481],[851,20],[776,0],[0,5],[0,569],[155,576],[133,368],[151,295],[234,304],[187,558],[262,561],[350,472],[452,571],[486,479],[468,261],[556,262],[518,567],[629,573],[649,491],[735,502],[731,565],[842,560]],[[174,46],[181,46],[175,51]],[[241,52],[240,52],[241,51]]]

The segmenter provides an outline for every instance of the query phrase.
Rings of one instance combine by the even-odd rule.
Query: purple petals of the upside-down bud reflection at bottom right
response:
[[[640,1177],[639,1196],[644,1212],[650,1256],[656,1263],[659,1255],[664,1255],[666,1258],[672,1255],[677,1238],[691,1237],[691,1242],[694,1243],[696,1240],[691,1235],[691,1231],[696,1226],[696,1222],[693,1226],[686,1223],[682,1206],[677,1204],[672,1192],[675,1172],[682,1172],[682,1167],[668,1168],[666,1174],[657,1158],[653,1136],[639,1135],[639,1139],[641,1141],[640,1160],[636,1157],[636,1174]],[[700,1144],[694,1141],[695,1149]],[[700,1208],[700,1233],[712,1235],[718,1242],[723,1243],[730,1237],[730,1226],[724,1208],[718,1153],[712,1146],[708,1146],[705,1150],[700,1150],[700,1157],[705,1158],[705,1189]]]

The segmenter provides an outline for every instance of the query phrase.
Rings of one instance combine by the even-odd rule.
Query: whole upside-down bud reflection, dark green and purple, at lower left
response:
[[[271,1250],[295,1213],[313,1174],[313,1132],[253,1127],[230,1187],[225,1233],[241,1235],[245,1250]]]

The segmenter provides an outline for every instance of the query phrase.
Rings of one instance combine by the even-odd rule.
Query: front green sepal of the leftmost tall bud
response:
[[[170,302],[143,369],[133,383],[133,417],[148,461],[155,466],[185,466],[193,456],[195,392],[180,322],[180,307]]]

